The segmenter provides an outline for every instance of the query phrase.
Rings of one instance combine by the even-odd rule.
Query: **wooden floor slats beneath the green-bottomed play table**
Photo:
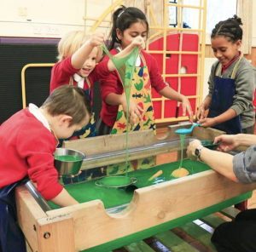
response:
[[[131,243],[110,252],[212,252],[214,228],[225,221],[232,221],[240,211],[230,207],[201,220],[179,226],[138,243]]]

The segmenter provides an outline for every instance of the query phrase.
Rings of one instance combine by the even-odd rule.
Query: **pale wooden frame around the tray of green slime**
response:
[[[168,137],[173,137],[173,130],[177,128],[181,127],[171,127],[168,130]],[[204,139],[210,140],[219,135],[218,131],[212,129],[196,128],[192,136],[201,135]],[[132,134],[132,138],[137,140],[133,143],[134,146],[142,145],[141,135],[142,140],[146,142],[153,139],[149,137],[150,134],[148,139],[145,139],[144,134],[149,133]],[[86,149],[84,144],[87,141],[90,142],[88,151],[91,153],[91,149],[96,148],[96,144],[102,145],[102,141],[107,147],[113,147],[113,144],[116,148],[124,146],[122,135],[97,138],[98,140],[82,140],[81,148]],[[73,141],[70,143],[73,146]],[[25,186],[16,189],[16,202],[20,228],[33,251],[74,252],[161,225],[230,198],[236,198],[255,188],[255,184],[237,184],[213,170],[207,170],[178,180],[137,189],[128,207],[117,214],[108,214],[101,200],[44,212]]]

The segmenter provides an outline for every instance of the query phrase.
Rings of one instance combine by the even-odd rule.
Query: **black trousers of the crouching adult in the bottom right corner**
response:
[[[219,225],[212,235],[212,243],[218,252],[256,251],[256,209],[248,209],[236,215],[235,221]]]

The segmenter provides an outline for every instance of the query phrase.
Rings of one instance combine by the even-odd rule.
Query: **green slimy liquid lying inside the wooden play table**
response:
[[[137,182],[131,185],[137,186],[138,188],[143,188],[147,186],[157,185],[168,180],[176,180],[170,178],[170,173],[177,169],[179,161],[173,163],[165,163],[151,167],[150,169],[137,169],[135,171],[128,173],[128,178],[137,178]],[[189,175],[199,173],[201,171],[211,169],[206,163],[201,163],[198,161],[192,161],[187,158],[183,160],[183,168],[189,171]],[[163,173],[154,180],[148,181],[152,175],[154,175],[159,170]],[[110,176],[109,176],[110,177]],[[106,177],[107,178],[107,177]],[[125,176],[123,175],[123,178]],[[118,206],[124,203],[130,203],[133,197],[133,192],[125,191],[123,188],[110,188],[106,186],[96,186],[96,181],[98,180],[88,180],[81,183],[64,186],[67,192],[73,196],[79,203],[88,202],[94,199],[100,199],[104,203],[105,208],[111,208],[113,206]],[[178,180],[178,179],[177,179]],[[52,203],[50,203],[52,205]],[[55,206],[56,208],[56,206]]]

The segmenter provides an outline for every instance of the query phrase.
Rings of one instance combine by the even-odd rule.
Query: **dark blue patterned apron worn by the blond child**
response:
[[[90,95],[90,81],[88,77],[85,77],[88,85],[89,85],[89,89],[84,89],[84,91],[86,92],[86,94],[88,95],[90,101],[91,101],[91,95]],[[70,78],[70,85],[73,86],[73,77]],[[93,108],[91,107],[92,112],[93,112]],[[93,116],[90,119],[90,123],[88,123],[86,126],[84,126],[81,130],[76,131],[73,133],[73,135],[67,139],[59,139],[59,145],[57,147],[61,147],[62,146],[62,142],[63,140],[75,140],[75,139],[81,139],[81,138],[85,138],[85,137],[91,137],[91,136],[96,136],[96,120],[94,117],[94,112],[93,112]]]

